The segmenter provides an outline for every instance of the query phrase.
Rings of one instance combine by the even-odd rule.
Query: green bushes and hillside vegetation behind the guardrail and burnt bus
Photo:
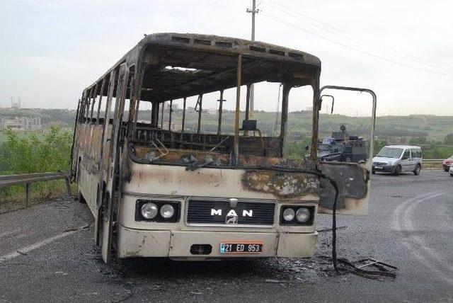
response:
[[[69,171],[69,157],[72,144],[75,110],[0,110],[0,116],[40,116],[42,122],[50,126],[45,132],[0,131],[0,175],[15,173],[42,173]],[[168,110],[166,111],[168,115]],[[244,113],[241,113],[243,118]],[[139,119],[149,120],[151,112],[141,110]],[[173,123],[180,124],[182,110],[174,110]],[[186,115],[186,130],[195,130],[197,115]],[[164,120],[168,116],[164,116]],[[217,132],[217,111],[202,113],[202,132]],[[258,120],[258,128],[263,135],[280,133],[280,118],[276,113],[256,111],[253,119]],[[277,127],[276,127],[277,125]],[[319,121],[320,139],[330,136],[333,130],[345,125],[351,135],[369,135],[369,118],[347,117],[344,115],[321,114]],[[413,144],[423,148],[425,159],[445,159],[453,154],[453,119],[430,115],[404,117],[378,117],[376,122],[374,154],[388,144]],[[222,131],[234,133],[234,112],[224,110]],[[301,159],[309,153],[304,147],[311,144],[311,112],[289,113],[285,154],[289,159]],[[367,144],[369,146],[369,144]],[[64,181],[51,181],[32,185],[33,198],[50,198],[64,193]],[[0,202],[22,200],[23,186],[0,188]]]

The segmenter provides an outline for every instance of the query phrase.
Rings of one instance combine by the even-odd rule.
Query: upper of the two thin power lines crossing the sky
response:
[[[272,1],[268,1],[268,0],[263,0],[263,2],[264,1],[265,1],[266,4],[272,6],[273,8],[275,8],[275,9],[277,9],[279,11],[282,11],[283,13],[287,13],[288,15],[291,15],[291,16],[293,16],[295,18],[302,17],[302,18],[308,19],[309,21],[306,21],[307,23],[310,23],[311,25],[314,25],[317,28],[321,28],[322,30],[326,30],[329,33],[334,33],[336,35],[339,35],[338,32],[340,32],[340,33],[343,33],[343,34],[340,34],[340,35],[343,35],[343,37],[345,37],[347,39],[356,40],[355,42],[357,42],[357,40],[359,40],[358,43],[360,43],[362,45],[372,45],[373,47],[378,47],[383,52],[386,52],[386,53],[388,53],[390,55],[394,55],[396,57],[401,57],[403,59],[408,59],[410,61],[418,62],[420,64],[424,64],[424,65],[428,65],[428,66],[431,65],[432,67],[436,67],[438,69],[440,68],[440,69],[451,69],[451,70],[453,70],[453,66],[452,65],[441,64],[439,62],[434,62],[434,61],[429,60],[429,59],[425,59],[425,58],[422,58],[422,57],[417,57],[417,56],[408,54],[406,52],[402,52],[401,50],[396,50],[393,47],[388,47],[388,46],[379,44],[378,42],[374,42],[372,40],[368,40],[366,38],[362,38],[359,35],[355,35],[353,33],[348,33],[347,31],[345,31],[345,30],[343,30],[341,28],[338,28],[336,26],[330,25],[330,24],[325,23],[323,21],[316,20],[315,18],[311,18],[310,16],[306,16],[303,13],[295,12],[294,9],[288,8],[287,6],[284,6],[282,4],[273,3]],[[278,7],[278,6],[280,6],[280,7]],[[311,21],[313,21],[313,22],[311,22]],[[319,24],[324,25],[324,26],[321,26]],[[331,30],[329,28],[332,28],[335,31],[333,31],[333,30]],[[348,38],[348,36],[350,36],[350,38]],[[362,42],[360,42],[360,40]],[[399,54],[401,54],[401,55],[399,55]]]

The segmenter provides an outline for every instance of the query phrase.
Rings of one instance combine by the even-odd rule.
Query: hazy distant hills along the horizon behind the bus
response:
[[[244,113],[241,113],[241,120]],[[62,109],[30,109],[18,110],[0,109],[0,117],[39,116],[44,125],[62,125],[73,127],[76,110]],[[150,110],[140,111],[140,120],[149,120]],[[172,121],[180,124],[182,110],[174,110]],[[168,119],[168,110],[164,114],[164,121]],[[253,113],[253,119],[258,120],[258,128],[266,135],[274,133],[276,113],[258,111]],[[217,131],[217,112],[207,110],[202,113],[202,130],[206,132]],[[188,110],[186,114],[186,129],[196,129],[197,113]],[[280,119],[279,119],[280,123]],[[348,132],[353,135],[367,136],[369,134],[370,118],[348,117],[345,115],[321,114],[319,129],[321,136],[330,135],[332,130],[338,130],[344,124]],[[232,132],[234,125],[234,112],[225,110],[222,119],[222,129]],[[277,129],[277,133],[280,128]],[[306,136],[311,132],[311,112],[299,111],[288,115],[288,133],[292,137]],[[408,115],[408,116],[383,116],[376,120],[375,135],[387,139],[389,143],[405,141],[404,138],[427,137],[430,140],[442,141],[446,135],[453,132],[452,116],[435,115]]]

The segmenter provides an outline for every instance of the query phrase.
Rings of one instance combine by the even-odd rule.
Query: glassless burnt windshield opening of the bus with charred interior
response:
[[[200,165],[219,168],[278,166],[284,157],[289,91],[300,86],[311,86],[314,92],[311,142],[317,142],[315,126],[319,114],[315,108],[319,99],[319,59],[275,45],[259,42],[260,47],[253,47],[249,42],[224,40],[224,43],[216,41],[207,47],[196,45],[196,38],[184,40],[178,36],[175,40],[173,36],[171,43],[151,40],[142,46],[137,60],[137,70],[142,73],[137,77],[140,80],[135,84],[136,91],[130,84],[130,94],[136,98],[131,98],[126,125],[132,161],[190,168]],[[280,135],[277,137],[262,135],[256,120],[249,118],[251,85],[263,81],[282,84]],[[246,96],[241,96],[241,86],[246,86]],[[222,132],[221,103],[217,134],[200,132],[203,95],[218,92],[222,99],[228,88],[236,88],[234,135]],[[164,130],[164,104],[171,105],[176,99],[183,99],[185,103],[185,99],[192,96],[197,97],[197,132],[185,131],[185,125],[180,132]],[[138,121],[139,105],[145,102],[151,103],[152,107],[149,125]],[[243,103],[246,109],[241,121]],[[184,104],[183,117],[187,110]],[[168,119],[170,126],[171,115]],[[316,146],[312,146],[311,155],[316,159],[313,148]]]

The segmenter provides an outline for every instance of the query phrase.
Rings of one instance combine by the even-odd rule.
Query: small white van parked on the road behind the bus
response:
[[[383,173],[413,172],[418,175],[422,169],[423,155],[422,148],[411,145],[387,145],[373,158],[372,173],[381,171]]]

